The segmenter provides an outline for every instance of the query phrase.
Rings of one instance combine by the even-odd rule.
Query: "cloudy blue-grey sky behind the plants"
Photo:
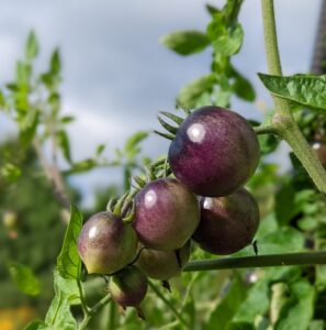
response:
[[[14,61],[23,52],[27,32],[34,29],[44,68],[55,46],[64,62],[63,111],[77,117],[70,128],[74,158],[93,154],[99,143],[121,146],[137,130],[157,129],[158,110],[172,110],[173,99],[186,82],[209,72],[210,50],[180,57],[165,50],[158,38],[175,30],[204,30],[207,1],[189,0],[1,0],[0,82],[13,75]],[[222,4],[224,1],[211,1]],[[321,0],[276,0],[284,74],[307,72],[318,21]],[[258,100],[270,103],[257,79],[266,72],[260,1],[246,0],[240,14],[246,32],[244,47],[234,58],[250,78]],[[261,118],[254,105],[235,101],[233,109],[248,118]],[[0,116],[1,136],[12,124]],[[168,143],[151,136],[144,154],[156,156]],[[101,169],[72,179],[82,191],[119,179]],[[88,195],[91,200],[91,194]]]

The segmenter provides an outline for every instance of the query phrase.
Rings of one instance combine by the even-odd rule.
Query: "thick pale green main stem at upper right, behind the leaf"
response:
[[[282,76],[273,0],[261,0],[261,9],[268,72],[271,75]],[[326,194],[326,172],[300,132],[289,101],[276,96],[272,98],[276,108],[272,125],[276,132],[292,147],[316,187]]]

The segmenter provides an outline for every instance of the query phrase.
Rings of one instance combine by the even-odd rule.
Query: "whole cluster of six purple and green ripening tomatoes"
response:
[[[212,254],[250,244],[259,210],[243,186],[259,156],[257,135],[243,117],[218,107],[193,111],[170,144],[171,176],[137,191],[132,223],[124,221],[126,207],[115,207],[83,226],[78,249],[88,273],[112,275],[112,298],[142,316],[147,277],[167,282],[178,275],[191,240]]]

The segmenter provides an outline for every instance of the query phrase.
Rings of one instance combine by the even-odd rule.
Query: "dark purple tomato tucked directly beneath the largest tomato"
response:
[[[252,242],[259,226],[259,209],[245,188],[226,197],[202,197],[200,204],[201,222],[193,240],[203,250],[232,254]]]

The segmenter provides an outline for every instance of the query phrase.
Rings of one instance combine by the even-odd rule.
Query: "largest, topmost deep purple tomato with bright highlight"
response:
[[[241,116],[218,107],[193,111],[180,125],[169,148],[171,169],[201,196],[227,196],[255,173],[259,143]]]

